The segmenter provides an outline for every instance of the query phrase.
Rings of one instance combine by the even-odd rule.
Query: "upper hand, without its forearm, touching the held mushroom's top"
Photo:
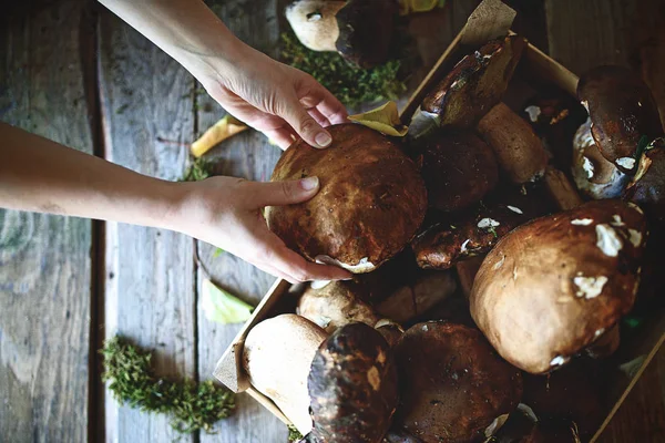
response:
[[[200,81],[233,116],[263,132],[283,150],[299,136],[315,147],[330,144],[324,127],[345,123],[347,112],[314,78],[249,48]]]

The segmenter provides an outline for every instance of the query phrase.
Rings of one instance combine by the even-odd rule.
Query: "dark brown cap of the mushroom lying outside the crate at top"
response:
[[[348,0],[337,12],[337,51],[365,69],[385,62],[398,12],[397,0]]]

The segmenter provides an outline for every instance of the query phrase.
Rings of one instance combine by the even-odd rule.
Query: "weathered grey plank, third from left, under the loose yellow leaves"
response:
[[[250,0],[208,1],[226,25],[247,44],[277,56],[279,14],[277,0],[262,1],[260,7]],[[224,116],[225,111],[207,94],[197,96],[198,133]],[[208,156],[221,162],[221,173],[256,181],[269,181],[282,151],[267,143],[267,138],[247,131],[214,148]],[[275,278],[231,254],[214,257],[215,248],[200,243],[198,253],[212,277],[243,299],[257,303]],[[202,276],[198,278],[201,288]],[[212,378],[213,370],[224,350],[233,341],[242,324],[217,324],[205,318],[198,302],[198,373],[201,379]],[[217,434],[201,434],[201,443],[284,443],[286,426],[246,394],[239,394],[233,416],[217,425]]]

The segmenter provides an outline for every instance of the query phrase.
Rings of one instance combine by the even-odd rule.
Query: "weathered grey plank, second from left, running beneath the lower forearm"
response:
[[[187,152],[170,141],[194,132],[192,76],[109,11],[100,16],[100,94],[108,158],[165,179],[182,177]],[[195,377],[193,240],[122,224],[106,229],[105,334],[155,348],[161,374]],[[106,392],[108,442],[171,442],[168,419],[119,406]],[[180,441],[191,441],[182,436]]]

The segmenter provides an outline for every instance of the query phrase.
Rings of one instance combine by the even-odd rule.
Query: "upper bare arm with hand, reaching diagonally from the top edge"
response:
[[[185,66],[235,117],[283,148],[296,135],[330,144],[323,126],[344,123],[346,110],[310,75],[243,43],[201,0],[100,0]]]

